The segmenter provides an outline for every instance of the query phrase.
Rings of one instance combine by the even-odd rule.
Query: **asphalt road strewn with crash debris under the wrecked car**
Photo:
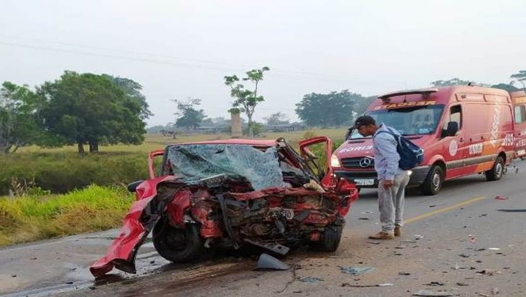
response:
[[[215,256],[173,265],[144,246],[137,275],[90,277],[115,230],[0,250],[0,294],[6,296],[526,296],[526,161],[520,172],[487,182],[469,176],[433,197],[410,191],[397,239],[367,239],[379,230],[375,190],[349,212],[335,253],[296,251],[289,271],[253,271],[255,258]],[[524,171],[524,172],[522,172]],[[499,196],[501,199],[495,199]],[[342,268],[373,268],[363,275]],[[365,287],[364,287],[365,286]]]

